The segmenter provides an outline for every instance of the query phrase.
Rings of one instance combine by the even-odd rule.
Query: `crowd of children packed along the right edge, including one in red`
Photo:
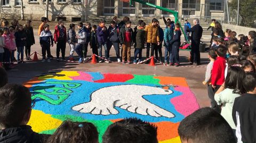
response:
[[[227,29],[225,38],[213,37],[203,84],[207,85],[211,107],[228,122],[237,142],[255,142],[256,32],[238,39],[235,35]]]

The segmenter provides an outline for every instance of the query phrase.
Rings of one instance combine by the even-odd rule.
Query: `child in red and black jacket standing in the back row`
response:
[[[54,43],[57,43],[57,62],[59,61],[60,51],[62,60],[65,60],[66,43],[67,43],[67,30],[64,22],[59,20],[58,25],[54,30]]]

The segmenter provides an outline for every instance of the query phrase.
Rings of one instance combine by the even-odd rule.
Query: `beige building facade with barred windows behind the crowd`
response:
[[[0,0],[1,17],[20,18],[23,1],[25,19],[40,19],[45,15],[46,0]],[[143,0],[179,12],[180,17],[210,16],[210,11],[223,11],[223,0]],[[208,15],[207,15],[208,14]],[[97,16],[161,17],[173,16],[147,5],[120,0],[49,0],[49,19],[79,21]]]

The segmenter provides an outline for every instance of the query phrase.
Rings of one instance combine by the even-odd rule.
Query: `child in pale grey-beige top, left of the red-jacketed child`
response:
[[[215,50],[210,49],[209,59],[211,62],[207,65],[206,72],[205,72],[205,80],[203,81],[203,85],[207,85],[208,96],[211,100],[211,108],[220,112],[220,108],[214,100],[214,89],[212,88],[212,85],[211,85],[212,68],[216,58],[217,58],[217,54],[215,53]]]

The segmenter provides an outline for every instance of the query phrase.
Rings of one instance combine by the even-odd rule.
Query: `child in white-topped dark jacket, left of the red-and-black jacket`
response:
[[[52,38],[52,32],[50,31],[49,25],[45,24],[44,25],[44,30],[41,32],[40,37],[39,37],[39,43],[42,47],[42,55],[43,55],[43,60],[42,62],[45,62],[45,52],[47,52],[47,62],[51,62],[50,60],[50,47],[52,45],[53,47],[53,38]]]

